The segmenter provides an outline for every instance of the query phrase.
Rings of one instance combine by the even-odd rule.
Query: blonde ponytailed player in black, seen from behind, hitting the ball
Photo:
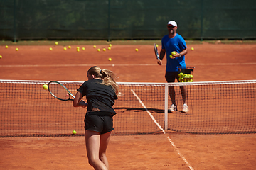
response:
[[[112,106],[120,94],[117,77],[110,70],[94,66],[88,70],[87,78],[78,89],[73,106],[87,107],[85,143],[89,164],[94,169],[109,169],[106,149],[114,130],[112,117],[116,113]],[[87,103],[81,100],[83,96]]]

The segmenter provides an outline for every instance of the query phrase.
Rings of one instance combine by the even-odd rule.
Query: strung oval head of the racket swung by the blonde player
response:
[[[60,82],[50,81],[48,83],[48,91],[50,94],[60,101],[74,101],[75,96]],[[71,96],[73,98],[71,98]]]

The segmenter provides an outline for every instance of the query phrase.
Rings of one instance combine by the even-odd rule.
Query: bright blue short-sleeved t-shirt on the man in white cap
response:
[[[169,38],[168,35],[165,35],[161,43],[162,49],[166,50],[166,72],[178,72],[178,66],[186,67],[185,55],[175,59],[170,58],[171,52],[176,51],[180,53],[187,48],[186,42],[181,35],[176,34],[174,38]]]

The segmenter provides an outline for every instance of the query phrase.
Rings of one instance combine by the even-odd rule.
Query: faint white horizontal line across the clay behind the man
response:
[[[157,66],[157,64],[96,64],[100,66]],[[256,65],[256,62],[248,63],[191,63],[193,66],[203,66],[203,65]],[[92,66],[92,64],[33,64],[33,65],[0,65],[0,67],[87,67]]]

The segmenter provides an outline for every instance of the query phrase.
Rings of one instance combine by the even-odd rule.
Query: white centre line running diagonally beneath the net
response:
[[[132,94],[134,94],[134,96],[137,98],[137,100],[139,101],[139,103],[141,103],[141,105],[145,108],[146,112],[149,114],[150,118],[154,121],[154,123],[156,123],[156,125],[159,127],[159,129],[166,134],[166,132],[164,131],[163,128],[161,128],[161,125],[159,125],[159,123],[156,121],[156,119],[154,118],[154,116],[149,112],[149,110],[146,108],[146,106],[144,105],[144,103],[142,102],[142,100],[139,98],[139,96],[137,96],[137,94],[131,89]],[[181,152],[178,150],[178,148],[176,147],[176,145],[174,144],[174,142],[171,140],[171,138],[169,136],[167,136],[167,139],[169,140],[169,142],[171,142],[171,145],[174,147],[174,149],[176,150],[176,152],[178,152],[179,156],[183,159],[183,161],[188,165],[188,168],[191,170],[194,170],[193,167],[191,166],[191,164],[189,164],[189,162],[186,160],[185,157],[183,157],[183,155],[181,154]]]

